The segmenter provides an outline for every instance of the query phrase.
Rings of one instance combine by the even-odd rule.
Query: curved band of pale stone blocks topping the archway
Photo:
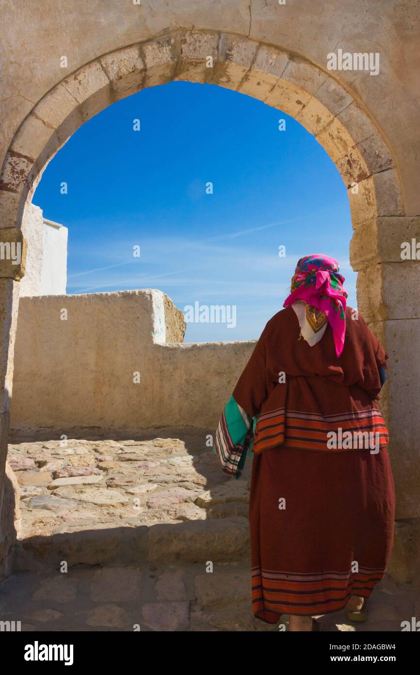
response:
[[[349,190],[353,227],[377,217],[400,216],[402,196],[395,163],[379,130],[357,101],[305,59],[232,34],[180,30],[90,61],[36,104],[5,157],[0,198],[8,223],[20,227],[24,206],[42,171],[85,121],[144,87],[171,80],[218,84],[281,109],[314,134]],[[357,182],[358,192],[351,190]],[[375,259],[357,238],[353,263]]]

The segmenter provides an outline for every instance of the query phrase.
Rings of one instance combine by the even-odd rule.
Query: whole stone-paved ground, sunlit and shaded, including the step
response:
[[[13,437],[22,522],[1,621],[46,631],[278,630],[251,613],[251,462],[229,479],[205,431],[158,433],[115,441],[84,430],[65,444],[51,431]],[[324,630],[400,630],[416,612],[420,591],[388,577],[365,624],[349,624],[344,611],[321,621]]]

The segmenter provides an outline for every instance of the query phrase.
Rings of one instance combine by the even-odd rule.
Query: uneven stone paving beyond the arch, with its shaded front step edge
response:
[[[14,569],[249,559],[248,481],[224,475],[200,442],[195,452],[173,437],[10,445]]]

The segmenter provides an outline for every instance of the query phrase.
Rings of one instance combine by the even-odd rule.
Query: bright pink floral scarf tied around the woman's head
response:
[[[301,300],[306,318],[314,332],[328,321],[334,333],[336,354],[340,356],[346,332],[347,292],[342,287],[344,277],[334,258],[316,253],[301,258],[292,278],[291,294],[283,306]]]

